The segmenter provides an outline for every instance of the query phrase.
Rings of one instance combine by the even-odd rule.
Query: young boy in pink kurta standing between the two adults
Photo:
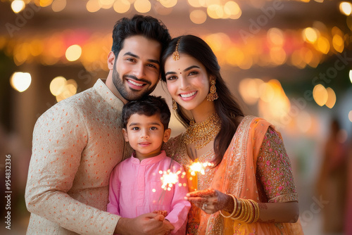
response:
[[[160,96],[130,101],[123,107],[122,132],[134,153],[111,172],[108,212],[127,218],[158,212],[175,227],[171,234],[184,235],[191,207],[184,200],[187,178],[182,165],[161,151],[163,142],[170,138],[169,121],[170,110]],[[178,173],[179,180],[165,190],[161,172],[169,169]]]

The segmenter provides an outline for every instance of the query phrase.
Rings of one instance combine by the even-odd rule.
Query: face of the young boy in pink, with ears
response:
[[[168,141],[171,129],[165,129],[160,115],[150,117],[134,113],[127,122],[126,129],[122,129],[125,141],[136,151],[139,160],[159,155],[163,142]]]

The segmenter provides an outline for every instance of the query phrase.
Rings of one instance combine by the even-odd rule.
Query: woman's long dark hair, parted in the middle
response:
[[[181,38],[181,39],[180,39]],[[225,81],[220,75],[220,65],[210,46],[203,41],[203,39],[194,35],[184,35],[172,39],[168,47],[163,53],[161,59],[162,77],[161,79],[166,82],[165,78],[165,61],[175,51],[177,41],[180,39],[178,51],[180,56],[182,53],[187,54],[197,61],[201,62],[208,72],[208,76],[215,77],[216,92],[218,92],[219,98],[214,101],[215,112],[218,114],[221,120],[220,132],[214,139],[214,152],[215,159],[214,165],[219,165],[225,152],[230,145],[234,132],[236,132],[239,122],[234,118],[244,116],[234,96],[232,96],[230,89],[227,88]],[[177,104],[176,110],[177,118],[182,122],[185,127],[189,126],[189,118],[186,113]]]

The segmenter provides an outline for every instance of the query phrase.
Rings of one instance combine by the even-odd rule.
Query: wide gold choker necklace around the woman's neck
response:
[[[184,144],[194,144],[196,149],[203,148],[215,138],[220,131],[220,127],[221,120],[216,113],[199,123],[194,122],[192,118],[184,133]]]

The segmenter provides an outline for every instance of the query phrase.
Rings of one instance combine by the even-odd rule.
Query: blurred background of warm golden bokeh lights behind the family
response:
[[[246,114],[282,132],[305,234],[352,234],[351,12],[333,0],[0,0],[0,233],[27,228],[37,118],[107,76],[113,25],[139,13],[208,42]],[[170,103],[162,84],[153,93]],[[175,118],[170,127],[183,130]]]

